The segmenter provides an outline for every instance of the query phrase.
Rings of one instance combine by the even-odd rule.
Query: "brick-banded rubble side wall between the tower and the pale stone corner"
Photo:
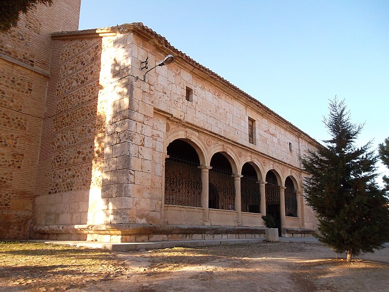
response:
[[[88,215],[89,209],[107,208],[100,197],[109,97],[101,76],[103,45],[100,37],[53,41],[35,226],[87,224],[101,216]]]

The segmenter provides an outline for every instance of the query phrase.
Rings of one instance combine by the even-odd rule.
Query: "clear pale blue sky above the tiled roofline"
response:
[[[328,100],[389,136],[389,1],[82,0],[80,29],[143,22],[318,141]],[[380,167],[380,171],[385,168]]]

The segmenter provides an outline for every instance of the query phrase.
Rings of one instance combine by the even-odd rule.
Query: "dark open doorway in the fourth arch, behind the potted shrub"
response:
[[[271,170],[266,174],[266,182],[266,215],[271,215],[274,218],[276,228],[278,228],[278,235],[281,236],[280,186],[275,174]]]

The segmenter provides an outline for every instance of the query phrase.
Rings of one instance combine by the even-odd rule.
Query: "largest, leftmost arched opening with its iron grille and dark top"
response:
[[[195,148],[183,140],[167,146],[165,204],[201,207],[200,161]]]

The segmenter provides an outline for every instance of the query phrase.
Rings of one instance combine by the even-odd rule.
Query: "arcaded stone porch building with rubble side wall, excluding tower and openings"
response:
[[[151,68],[167,54],[174,55],[175,62],[158,66],[143,81],[142,62],[147,58]],[[268,171],[276,176],[280,198],[286,178],[297,191],[297,217],[285,216],[281,199],[283,234],[301,236],[315,227],[301,196],[306,174],[298,156],[317,142],[142,24],[54,34],[51,74],[38,165],[35,237],[100,241],[260,237]],[[249,119],[254,126],[252,143]],[[200,203],[188,203],[188,192],[174,205],[165,201],[167,149],[177,139],[197,155]],[[228,161],[233,197],[228,206],[219,202],[210,208],[209,173],[219,163],[212,162],[215,153]],[[254,170],[261,193],[261,207],[258,204],[253,213],[240,207],[246,164]],[[170,167],[178,172],[177,164]],[[193,176],[182,167],[181,173]]]

